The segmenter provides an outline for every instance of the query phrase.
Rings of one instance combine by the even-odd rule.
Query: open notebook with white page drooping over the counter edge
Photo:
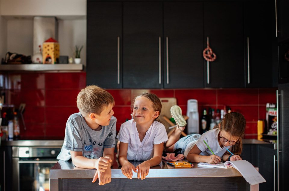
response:
[[[210,163],[198,163],[198,167],[205,168],[235,168],[238,170],[245,180],[251,185],[266,182],[262,175],[246,160],[226,161],[225,163],[210,164]]]

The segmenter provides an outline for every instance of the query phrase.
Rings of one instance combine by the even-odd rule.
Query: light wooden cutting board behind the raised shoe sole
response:
[[[166,132],[169,132],[169,127],[171,126],[169,123],[167,123],[163,116],[166,116],[167,118],[171,118],[171,107],[174,105],[177,105],[177,99],[176,98],[160,98],[160,101],[162,102],[162,111],[160,112],[159,119],[162,121],[163,125],[166,127]]]

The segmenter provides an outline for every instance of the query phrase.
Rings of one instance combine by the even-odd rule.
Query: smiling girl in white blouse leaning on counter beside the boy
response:
[[[143,93],[134,99],[132,120],[120,126],[118,161],[122,173],[132,179],[132,170],[145,179],[152,166],[162,160],[163,144],[168,140],[165,126],[158,121],[162,104],[157,95]],[[129,160],[144,161],[136,167]]]

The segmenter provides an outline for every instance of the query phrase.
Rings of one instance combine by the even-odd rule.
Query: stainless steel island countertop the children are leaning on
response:
[[[133,161],[138,165],[141,161]],[[235,168],[198,168],[197,163],[193,163],[193,168],[173,168],[163,161],[160,165],[151,167],[148,178],[160,177],[241,177],[241,173]],[[50,178],[93,178],[96,169],[78,168],[71,161],[59,160],[50,169]],[[126,178],[120,167],[115,163],[111,167],[112,178]],[[137,173],[133,172],[133,178],[137,178]]]

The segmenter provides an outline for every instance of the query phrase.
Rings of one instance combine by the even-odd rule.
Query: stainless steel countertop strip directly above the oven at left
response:
[[[1,141],[1,146],[62,146],[64,140],[11,140]]]

